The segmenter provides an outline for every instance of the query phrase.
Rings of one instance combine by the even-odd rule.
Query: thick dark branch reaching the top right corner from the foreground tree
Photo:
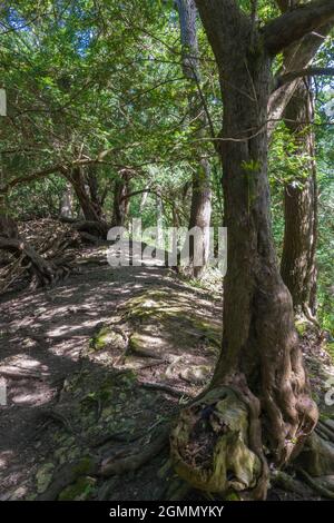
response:
[[[308,32],[332,21],[334,23],[333,0],[315,0],[306,6],[299,6],[264,27],[265,47],[271,55],[277,55]]]

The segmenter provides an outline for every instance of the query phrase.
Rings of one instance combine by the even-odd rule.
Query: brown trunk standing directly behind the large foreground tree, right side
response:
[[[302,80],[285,110],[285,124],[294,141],[294,154],[303,158],[296,178],[284,190],[284,244],[281,264],[283,280],[291,292],[294,309],[315,313],[316,285],[316,167],[312,125],[312,95]]]

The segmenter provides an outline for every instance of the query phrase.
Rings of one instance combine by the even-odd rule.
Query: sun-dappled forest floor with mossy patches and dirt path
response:
[[[80,274],[62,285],[0,299],[0,500],[36,499],[79,457],[149,445],[210,377],[219,286],[195,287],[164,267],[110,267],[106,249],[82,249]],[[304,348],[322,404],[334,367],[312,337]],[[173,480],[166,448],[136,473],[84,474],[59,499],[161,500]],[[277,489],[271,496],[291,499]]]

